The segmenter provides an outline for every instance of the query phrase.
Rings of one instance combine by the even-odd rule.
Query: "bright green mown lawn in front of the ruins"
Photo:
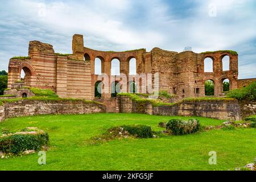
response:
[[[20,131],[38,127],[49,133],[47,164],[38,155],[0,159],[0,170],[228,170],[256,158],[256,129],[210,130],[191,135],[151,139],[113,140],[99,145],[88,139],[112,126],[143,124],[154,130],[171,118],[145,114],[41,115],[12,118],[0,128]],[[220,125],[217,119],[194,117],[201,125]],[[217,152],[217,165],[209,165],[209,151]]]

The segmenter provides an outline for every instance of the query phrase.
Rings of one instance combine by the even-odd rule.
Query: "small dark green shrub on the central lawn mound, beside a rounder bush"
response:
[[[152,138],[153,132],[150,126],[137,125],[137,126],[123,126],[129,134],[138,138]]]

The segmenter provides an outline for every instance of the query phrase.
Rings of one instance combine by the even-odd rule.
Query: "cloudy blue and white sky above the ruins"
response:
[[[233,49],[239,77],[256,77],[255,0],[1,0],[0,17],[1,70],[27,55],[30,40],[72,53],[72,35],[82,34],[85,47],[102,51]]]

